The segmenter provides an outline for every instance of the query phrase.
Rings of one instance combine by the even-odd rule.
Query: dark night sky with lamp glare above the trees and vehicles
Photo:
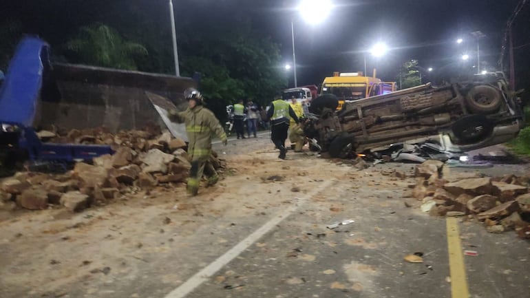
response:
[[[378,76],[386,80],[395,80],[399,65],[412,58],[418,59],[422,67],[439,70],[461,63],[458,58],[467,49],[471,56],[469,63],[474,64],[476,43],[456,45],[455,40],[457,36],[476,30],[487,35],[480,41],[481,58],[496,67],[503,29],[519,1],[333,0],[337,7],[330,17],[312,26],[293,10],[298,0],[173,0],[177,18],[182,14],[197,15],[200,21],[202,17],[213,18],[215,14],[228,11],[212,9],[212,3],[248,14],[256,29],[282,45],[286,63],[292,62],[290,21],[293,19],[299,85],[321,83],[324,76],[334,71],[362,70],[363,50],[376,41],[385,41],[392,51],[379,61],[368,56],[368,69],[377,63]],[[190,2],[194,3],[193,8],[187,6]],[[39,3],[38,8],[35,8],[36,3]],[[61,3],[61,6],[47,10],[45,3]],[[169,26],[166,24],[169,23],[167,0],[0,0],[0,20],[19,19],[28,31],[47,36],[49,40],[54,39],[54,32],[73,34],[79,25],[98,21],[98,11],[107,18],[114,15],[119,19],[120,6],[134,7],[138,13],[150,13],[156,16],[160,26]],[[26,10],[30,12],[25,13]],[[529,43],[530,38],[524,30],[529,25],[529,11],[529,7],[525,8],[516,23],[516,45]],[[53,41],[50,42],[53,45]],[[525,56],[529,48],[520,47],[516,55]],[[292,79],[290,85],[293,85]]]

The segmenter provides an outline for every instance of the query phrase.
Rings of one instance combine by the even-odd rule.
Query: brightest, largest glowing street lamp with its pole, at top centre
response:
[[[297,10],[307,23],[316,25],[328,17],[332,8],[333,4],[331,0],[302,0],[298,5]],[[295,22],[293,19],[290,21],[290,33],[293,41],[293,72],[295,74],[295,87],[298,87],[296,77]]]

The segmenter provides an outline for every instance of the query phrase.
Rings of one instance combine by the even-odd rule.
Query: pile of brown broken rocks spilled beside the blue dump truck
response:
[[[150,191],[185,182],[191,167],[186,142],[156,125],[117,134],[98,128],[46,131],[39,136],[50,142],[110,145],[115,153],[93,158],[92,164],[77,162],[67,173],[27,171],[6,178],[0,182],[0,209],[21,206],[38,210],[62,205],[81,211],[140,189]],[[215,153],[211,162],[216,169],[224,167]]]

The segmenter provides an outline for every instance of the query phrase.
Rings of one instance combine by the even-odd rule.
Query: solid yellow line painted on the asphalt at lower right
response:
[[[447,247],[449,248],[451,297],[469,298],[462,244],[460,244],[460,232],[458,231],[458,220],[455,217],[447,218]]]

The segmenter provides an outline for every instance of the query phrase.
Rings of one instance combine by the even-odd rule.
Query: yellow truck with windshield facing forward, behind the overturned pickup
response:
[[[374,76],[364,76],[362,72],[334,72],[333,76],[324,78],[320,95],[333,94],[339,99],[339,107],[342,109],[346,102],[389,94],[396,91],[395,82],[383,82]]]

